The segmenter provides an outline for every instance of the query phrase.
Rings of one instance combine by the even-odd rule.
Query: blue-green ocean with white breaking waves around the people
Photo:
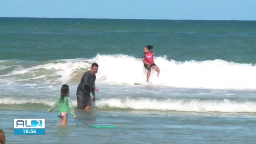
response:
[[[0,18],[0,129],[7,144],[255,144],[255,39],[256,21]],[[135,85],[146,45],[160,74]],[[99,92],[77,110],[91,63]],[[86,126],[46,112],[63,84]],[[14,135],[18,118],[45,135]]]

